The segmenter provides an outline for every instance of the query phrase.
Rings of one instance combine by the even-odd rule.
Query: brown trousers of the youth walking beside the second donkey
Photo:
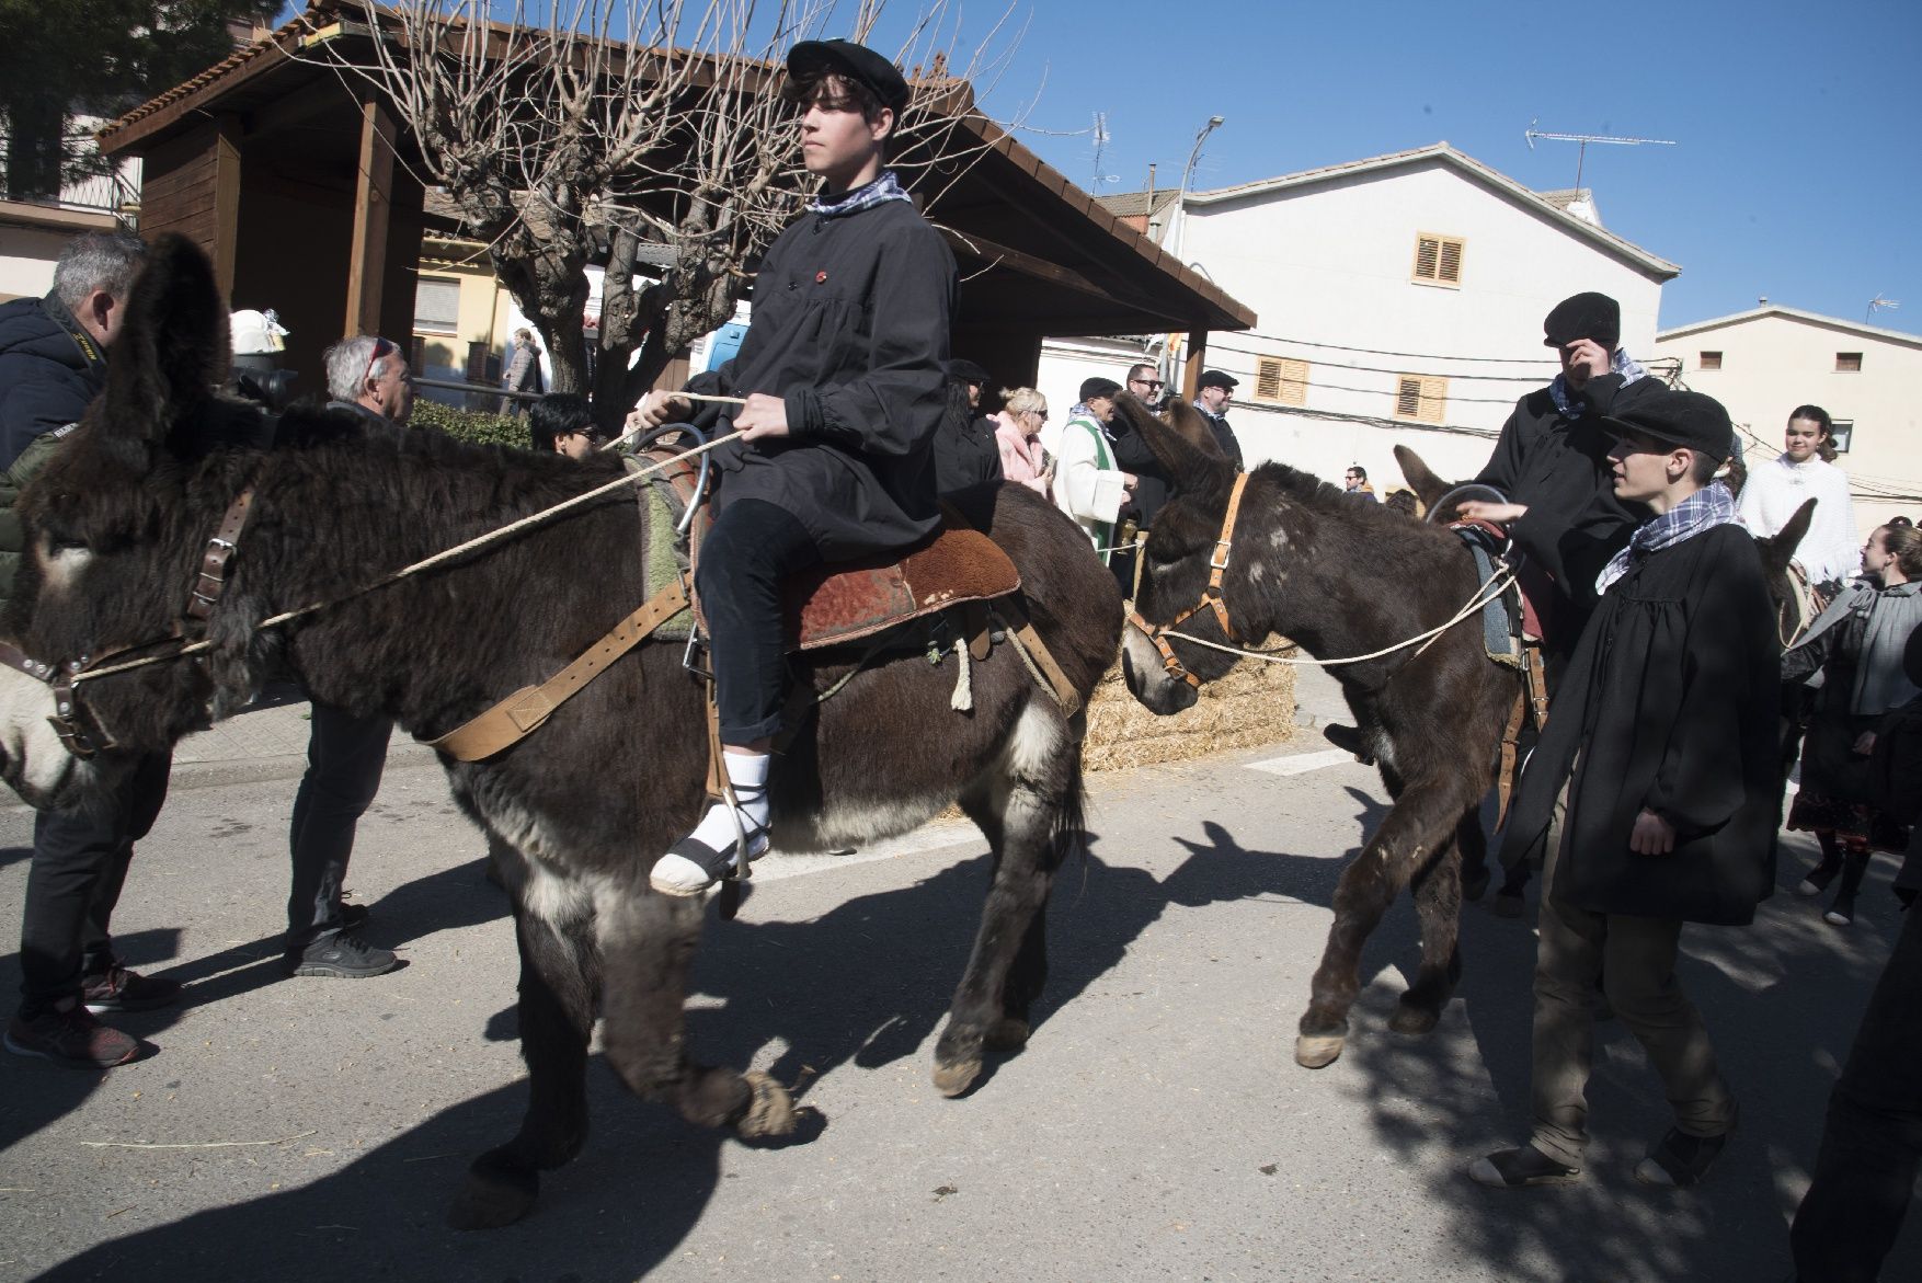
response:
[[[1676,980],[1680,918],[1597,914],[1557,903],[1559,828],[1549,834],[1538,922],[1534,1147],[1570,1168],[1582,1166],[1597,985],[1649,1054],[1676,1112],[1676,1127],[1688,1135],[1730,1131],[1736,1101],[1714,1068],[1709,1029]]]

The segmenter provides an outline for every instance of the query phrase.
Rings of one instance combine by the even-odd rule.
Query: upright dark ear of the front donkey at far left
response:
[[[173,232],[154,242],[125,305],[96,430],[158,444],[227,376],[227,305],[213,263]]]

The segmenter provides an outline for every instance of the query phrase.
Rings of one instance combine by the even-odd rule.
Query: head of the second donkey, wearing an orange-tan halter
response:
[[[1180,713],[1194,705],[1199,684],[1228,672],[1236,657],[1165,636],[1163,628],[1174,626],[1230,645],[1249,645],[1267,634],[1247,615],[1245,603],[1236,609],[1232,590],[1240,576],[1228,582],[1226,572],[1215,574],[1215,563],[1226,565],[1222,559],[1228,555],[1220,540],[1234,538],[1222,532],[1222,524],[1236,490],[1236,472],[1192,405],[1170,401],[1163,421],[1134,398],[1122,396],[1117,399],[1117,413],[1142,434],[1174,482],[1174,497],[1155,515],[1142,549],[1142,588],[1122,634],[1122,672],[1128,690],[1151,711]]]

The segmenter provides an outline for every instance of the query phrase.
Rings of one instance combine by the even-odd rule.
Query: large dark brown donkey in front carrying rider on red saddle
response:
[[[0,620],[31,661],[86,668],[160,643],[185,618],[194,570],[246,488],[252,515],[206,628],[211,651],[83,682],[83,722],[129,751],[163,749],[238,709],[281,661],[315,699],[438,736],[546,680],[640,605],[636,505],[627,492],[465,561],[352,597],[286,628],[256,622],[331,601],[442,547],[621,474],[598,457],[459,446],[436,432],[369,434],[352,415],[296,409],[283,446],[209,388],[227,369],[227,311],[198,250],[161,238],[133,292],[108,392],[21,499],[29,555]],[[984,496],[980,526],[1021,569],[1034,626],[1082,697],[1115,657],[1121,601],[1088,542],[1023,486]],[[198,628],[188,628],[188,636]],[[848,657],[798,661],[825,690]],[[94,657],[108,657],[106,661]],[[48,726],[56,693],[0,668],[0,774],[35,805],[73,805],[117,755],[73,757]],[[955,670],[876,663],[821,703],[773,776],[775,845],[819,851],[905,832],[959,801],[994,851],[967,974],[934,1051],[965,1091],[994,1049],[1019,1047],[1046,974],[1044,907],[1080,830],[1082,722],[999,645],[974,668],[973,713],[949,709]],[[702,903],[655,895],[648,866],[702,807],[702,690],[680,647],[644,643],[534,736],[475,764],[454,795],[515,855],[505,870],[521,945],[521,1051],[530,1104],[519,1135],[475,1160],[452,1220],[502,1225],[534,1202],[538,1172],[586,1139],[584,1066],[596,1012],[605,1054],[638,1095],[690,1122],[778,1135],[788,1093],[690,1058],[688,968]]]

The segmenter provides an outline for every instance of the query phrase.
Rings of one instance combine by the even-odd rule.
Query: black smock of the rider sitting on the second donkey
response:
[[[1574,649],[1595,609],[1595,576],[1649,515],[1639,503],[1614,497],[1609,465],[1614,438],[1597,419],[1659,386],[1655,378],[1628,386],[1620,375],[1589,378],[1580,392],[1568,392],[1570,409],[1580,415],[1561,413],[1547,388],[1530,392],[1515,403],[1495,453],[1474,478],[1528,507],[1509,526],[1509,538],[1555,580],[1557,597],[1543,628],[1547,647],[1559,655]]]

